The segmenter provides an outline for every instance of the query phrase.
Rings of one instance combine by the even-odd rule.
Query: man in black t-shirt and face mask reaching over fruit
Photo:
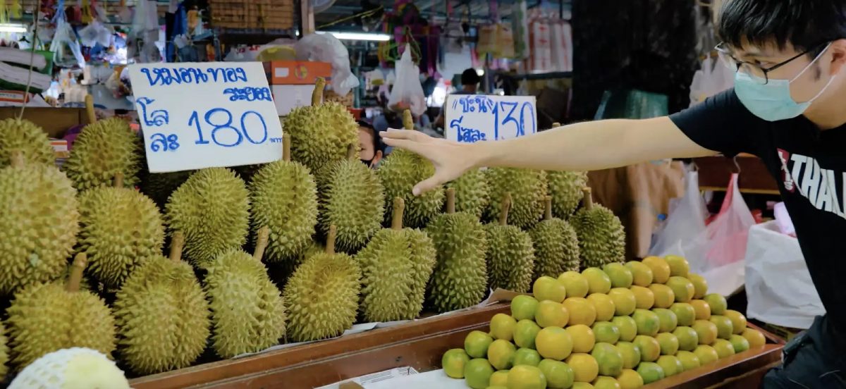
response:
[[[788,343],[764,386],[846,388],[846,0],[725,0],[717,47],[735,87],[670,117],[577,123],[458,144],[388,131],[436,167],[420,194],[474,167],[596,170],[749,152],[780,184],[827,315]]]

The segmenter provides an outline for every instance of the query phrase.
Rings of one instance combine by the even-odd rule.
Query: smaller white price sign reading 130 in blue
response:
[[[535,96],[449,95],[444,109],[448,140],[473,143],[537,132]]]

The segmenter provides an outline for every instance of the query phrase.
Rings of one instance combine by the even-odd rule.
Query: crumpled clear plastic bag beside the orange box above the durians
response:
[[[359,78],[349,70],[349,51],[332,34],[310,34],[294,45],[300,61],[332,63],[332,90],[338,96],[347,96],[349,90],[359,86]],[[415,77],[417,79],[417,77]]]

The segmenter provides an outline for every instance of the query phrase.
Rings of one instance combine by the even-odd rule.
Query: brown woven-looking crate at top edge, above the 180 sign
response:
[[[233,30],[288,30],[294,0],[210,0],[211,26]]]

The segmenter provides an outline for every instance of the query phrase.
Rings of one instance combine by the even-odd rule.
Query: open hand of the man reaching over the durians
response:
[[[415,196],[459,178],[465,171],[475,167],[476,157],[471,145],[432,138],[419,131],[404,129],[388,129],[380,134],[386,145],[411,151],[428,159],[435,166],[434,175],[415,185],[412,190]]]

